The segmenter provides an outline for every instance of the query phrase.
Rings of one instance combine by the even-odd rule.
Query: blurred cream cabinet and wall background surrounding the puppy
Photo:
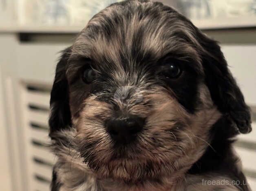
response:
[[[115,0],[0,0],[0,190],[47,191],[50,90],[58,52]],[[221,43],[253,113],[236,151],[256,191],[256,0],[162,0]]]

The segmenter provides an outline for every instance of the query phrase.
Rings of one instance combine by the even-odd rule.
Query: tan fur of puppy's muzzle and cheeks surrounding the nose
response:
[[[202,86],[201,92],[209,94],[205,88]],[[85,107],[75,122],[80,152],[88,157],[88,164],[98,178],[136,182],[141,178],[172,176],[175,182],[209,146],[208,132],[221,114],[209,100],[202,100],[199,112],[189,114],[162,87],[139,93],[143,100],[137,104],[133,104],[136,102],[133,96],[125,103],[115,99],[121,111],[147,117],[137,142],[117,154],[104,124],[113,114],[113,108],[93,96],[85,100]],[[205,96],[209,98],[202,95]],[[145,172],[147,165],[151,165],[148,173]]]

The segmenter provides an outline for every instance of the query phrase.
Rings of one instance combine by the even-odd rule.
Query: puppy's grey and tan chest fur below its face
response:
[[[99,179],[84,163],[73,141],[74,131],[64,130],[55,134],[52,150],[57,156],[53,169],[52,191],[239,191],[241,188],[231,185],[206,184],[211,182],[232,182],[221,174],[190,175],[175,174],[172,177],[159,178],[159,182],[147,181],[141,184],[124,184],[115,180]],[[179,178],[174,178],[179,177]]]

